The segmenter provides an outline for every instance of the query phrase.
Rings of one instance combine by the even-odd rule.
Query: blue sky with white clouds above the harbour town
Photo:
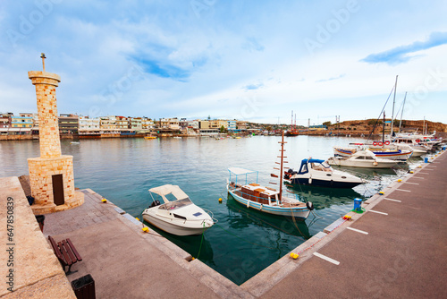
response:
[[[375,118],[395,76],[404,118],[447,123],[447,2],[2,1],[0,111],[298,124]],[[391,115],[392,101],[386,109]]]

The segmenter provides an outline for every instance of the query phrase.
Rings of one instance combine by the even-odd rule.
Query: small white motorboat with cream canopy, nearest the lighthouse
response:
[[[196,206],[179,186],[165,184],[149,189],[152,203],[143,218],[153,226],[173,235],[201,235],[215,222],[205,210]],[[154,199],[156,194],[164,202]]]

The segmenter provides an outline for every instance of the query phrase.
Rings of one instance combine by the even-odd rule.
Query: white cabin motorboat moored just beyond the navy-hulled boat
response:
[[[327,159],[329,165],[340,167],[363,167],[363,168],[391,168],[397,165],[396,160],[377,158],[369,149],[358,150],[350,157],[331,157]]]

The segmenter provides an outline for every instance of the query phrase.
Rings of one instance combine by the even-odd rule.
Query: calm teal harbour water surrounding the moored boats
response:
[[[241,139],[102,139],[61,141],[62,152],[72,155],[76,187],[90,188],[133,217],[141,218],[151,203],[148,189],[177,184],[199,207],[211,211],[215,226],[204,235],[174,236],[155,229],[185,251],[240,285],[277,261],[325,226],[353,209],[354,199],[365,199],[405,175],[422,162],[410,159],[395,169],[344,168],[369,183],[354,189],[298,186],[287,188],[303,201],[312,201],[314,213],[306,221],[265,215],[247,209],[227,195],[228,167],[259,171],[260,184],[278,183],[281,137]],[[297,136],[285,138],[287,167],[299,168],[303,158],[326,159],[333,146],[363,140],[345,137]],[[0,177],[28,175],[27,158],[38,157],[38,141],[0,142]],[[270,185],[278,188],[278,185]],[[219,203],[222,198],[222,203]],[[138,249],[134,249],[138,250]]]

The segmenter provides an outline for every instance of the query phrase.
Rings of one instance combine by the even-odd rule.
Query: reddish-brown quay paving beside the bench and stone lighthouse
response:
[[[67,275],[70,281],[90,274],[99,298],[251,296],[201,261],[187,261],[190,254],[163,236],[142,232],[142,224],[112,202],[82,192],[82,206],[46,215],[44,228],[56,241],[70,238],[82,257]]]

